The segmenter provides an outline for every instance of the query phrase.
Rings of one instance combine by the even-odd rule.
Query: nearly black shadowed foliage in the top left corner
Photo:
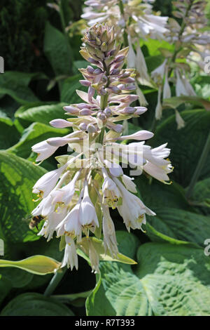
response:
[[[5,70],[42,71],[43,34],[48,18],[46,0],[2,0],[0,4],[0,55]]]

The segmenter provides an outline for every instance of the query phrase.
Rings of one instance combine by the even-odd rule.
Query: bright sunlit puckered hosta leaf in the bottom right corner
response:
[[[209,315],[210,262],[203,249],[148,243],[137,276],[155,315]]]

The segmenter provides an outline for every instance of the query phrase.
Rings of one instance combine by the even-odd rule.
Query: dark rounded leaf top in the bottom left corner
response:
[[[23,293],[1,311],[1,316],[72,316],[73,312],[53,298],[40,293]]]

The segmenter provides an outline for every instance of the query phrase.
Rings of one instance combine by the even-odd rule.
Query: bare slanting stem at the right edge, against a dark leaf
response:
[[[202,151],[202,155],[200,157],[200,160],[198,161],[197,163],[197,167],[195,169],[195,172],[193,173],[193,178],[191,179],[190,181],[190,185],[188,187],[188,191],[186,193],[186,197],[187,199],[190,198],[192,192],[193,192],[193,188],[195,187],[195,183],[197,183],[197,179],[199,178],[200,176],[200,173],[202,171],[202,168],[205,164],[205,161],[207,160],[207,156],[209,154],[209,151],[210,151],[210,132],[209,132],[209,136],[207,138],[207,141],[204,145],[204,149]]]

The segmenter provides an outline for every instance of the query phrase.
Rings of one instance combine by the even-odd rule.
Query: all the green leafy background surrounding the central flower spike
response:
[[[62,107],[78,102],[78,68],[86,65],[78,53],[78,21],[83,1],[62,1],[63,20],[45,0],[4,0],[0,4],[0,55],[6,72],[0,75],[0,238],[3,260],[43,255],[62,260],[57,239],[45,242],[29,230],[34,208],[31,187],[45,170],[55,169],[51,157],[34,166],[31,146],[68,130],[49,126],[64,118]],[[155,1],[155,9],[171,15],[171,1]],[[64,25],[71,22],[68,32]],[[161,63],[161,41],[142,41],[148,70]],[[165,47],[170,47],[165,42]],[[195,71],[193,86],[209,104],[209,81]],[[129,133],[150,129],[157,91],[145,88],[148,112],[130,123]],[[177,105],[186,126],[177,130],[174,110],[166,108],[158,122],[153,147],[168,141],[174,164],[172,185],[146,176],[135,178],[144,203],[157,216],[148,218],[146,233],[124,231],[112,211],[119,251],[137,265],[102,261],[95,276],[83,258],[79,270],[68,270],[52,296],[43,296],[52,274],[37,275],[20,268],[0,268],[1,315],[210,315],[210,259],[204,241],[210,238],[209,169],[207,157],[190,200],[186,191],[209,134],[210,112],[203,103]],[[56,155],[66,150],[60,148]],[[45,259],[50,267],[53,261]],[[25,265],[25,263],[24,263]]]

